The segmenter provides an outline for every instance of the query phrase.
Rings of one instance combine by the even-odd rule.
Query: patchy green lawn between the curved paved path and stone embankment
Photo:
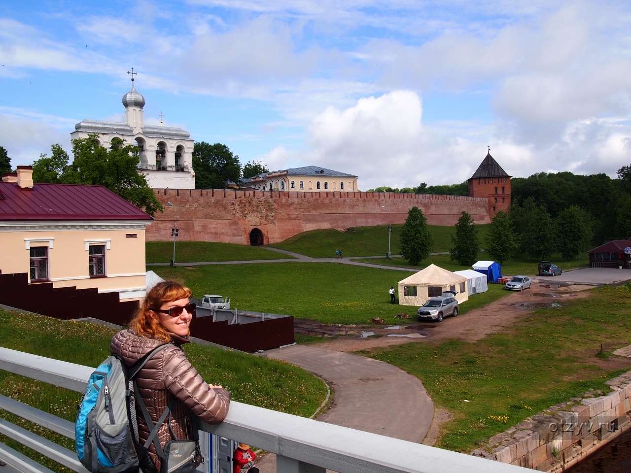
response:
[[[631,285],[591,289],[475,343],[404,344],[361,354],[418,377],[453,419],[437,447],[470,452],[476,442],[589,388],[608,392],[596,356],[631,343]],[[605,354],[606,357],[606,354]]]

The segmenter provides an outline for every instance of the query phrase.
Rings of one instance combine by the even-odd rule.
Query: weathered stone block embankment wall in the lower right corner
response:
[[[631,371],[493,436],[471,455],[550,473],[567,470],[631,428]]]

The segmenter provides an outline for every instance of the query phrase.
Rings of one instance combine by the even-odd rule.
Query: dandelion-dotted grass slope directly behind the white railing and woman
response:
[[[0,346],[86,366],[97,366],[109,356],[115,332],[103,325],[0,310]],[[308,417],[326,397],[326,387],[317,377],[288,363],[194,344],[186,345],[185,351],[202,377],[228,389],[233,400]],[[72,422],[81,399],[78,392],[7,371],[0,371],[0,394]],[[74,441],[0,412],[4,419],[74,450]],[[5,436],[0,435],[0,441],[58,473],[68,472],[67,468]]]

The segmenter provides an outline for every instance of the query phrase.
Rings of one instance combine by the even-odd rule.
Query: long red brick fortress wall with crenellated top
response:
[[[278,243],[297,233],[322,228],[404,223],[419,207],[430,225],[454,225],[467,211],[476,223],[490,223],[485,197],[433,196],[386,192],[283,192],[240,189],[154,189],[164,213],[147,227],[147,241],[171,240],[177,207],[179,240],[250,244],[259,228],[264,243]],[[382,206],[386,207],[383,209]]]

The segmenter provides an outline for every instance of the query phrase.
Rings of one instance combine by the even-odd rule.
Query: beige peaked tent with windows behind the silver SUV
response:
[[[456,291],[459,304],[469,300],[467,278],[435,264],[399,281],[399,304],[422,306],[430,297],[443,291]]]

